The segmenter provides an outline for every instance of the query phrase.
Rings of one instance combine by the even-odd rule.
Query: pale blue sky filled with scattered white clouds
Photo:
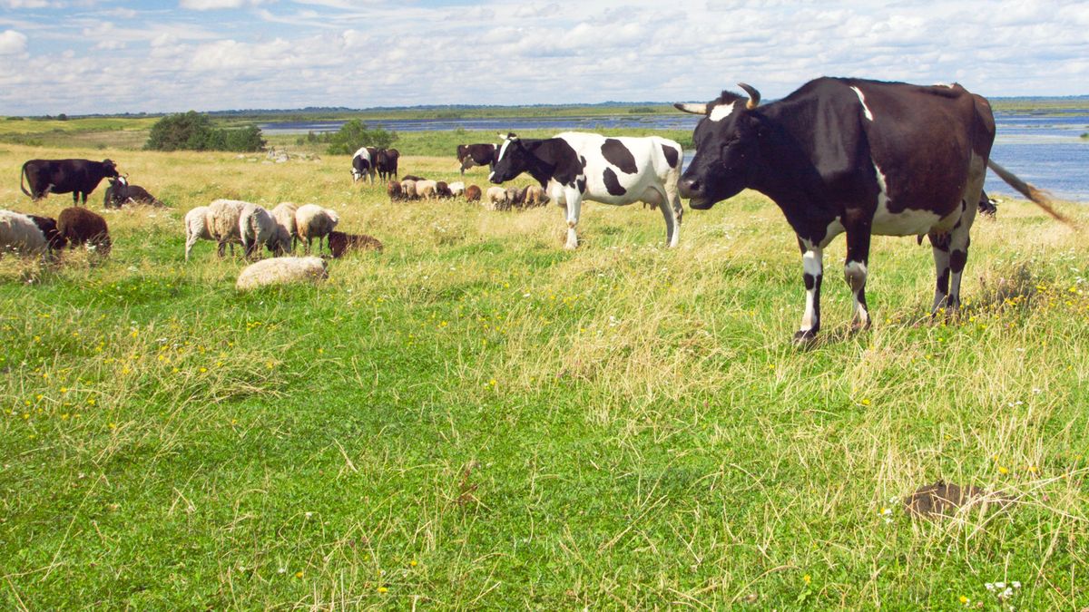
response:
[[[1089,94],[1086,0],[0,0],[0,115]]]

